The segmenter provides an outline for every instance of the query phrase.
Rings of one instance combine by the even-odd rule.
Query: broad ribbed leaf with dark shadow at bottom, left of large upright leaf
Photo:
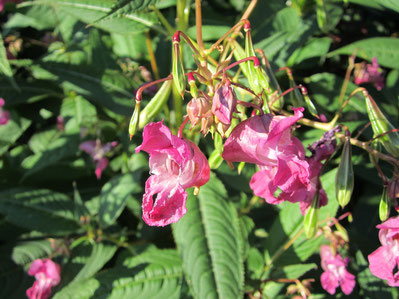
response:
[[[72,283],[54,299],[180,298],[181,261],[174,250],[149,250],[93,278]]]

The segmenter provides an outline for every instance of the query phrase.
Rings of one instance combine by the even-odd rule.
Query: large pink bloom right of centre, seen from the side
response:
[[[271,204],[303,201],[311,189],[305,149],[291,134],[291,126],[303,116],[303,108],[294,112],[291,117],[253,116],[235,127],[224,145],[225,160],[258,165],[250,187]],[[278,189],[281,194],[276,197]]]

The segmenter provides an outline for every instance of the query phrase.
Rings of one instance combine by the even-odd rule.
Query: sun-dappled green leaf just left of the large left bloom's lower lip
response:
[[[117,176],[101,189],[98,217],[103,227],[115,222],[132,193],[142,192],[140,174],[141,171],[137,171]]]

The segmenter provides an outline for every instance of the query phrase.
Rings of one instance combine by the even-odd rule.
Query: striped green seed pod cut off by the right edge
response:
[[[381,112],[380,108],[376,102],[369,96],[366,95],[366,106],[369,119],[371,122],[371,127],[373,128],[374,136],[385,134],[379,137],[377,140],[382,143],[384,148],[392,156],[399,157],[399,133],[390,132],[394,130],[395,127],[389,122],[385,115]]]

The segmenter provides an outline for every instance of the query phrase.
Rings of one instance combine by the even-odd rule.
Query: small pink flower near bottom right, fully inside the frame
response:
[[[320,247],[321,267],[324,272],[320,277],[321,286],[331,295],[335,294],[335,289],[341,286],[345,295],[352,293],[356,281],[355,276],[346,270],[349,258],[342,258],[339,253],[334,253],[331,246],[322,245]]]

